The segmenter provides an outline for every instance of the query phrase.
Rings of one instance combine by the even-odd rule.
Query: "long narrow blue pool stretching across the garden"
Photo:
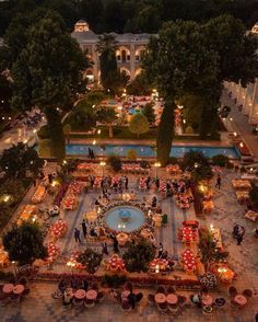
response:
[[[126,157],[128,150],[134,150],[138,157],[156,157],[156,150],[151,146],[138,145],[67,145],[66,150],[68,156],[87,156],[89,148],[91,148],[95,156],[110,156],[117,154]],[[173,146],[171,149],[171,157],[183,158],[186,152],[190,150],[202,152],[206,157],[212,158],[216,154],[224,154],[231,159],[239,159],[241,154],[234,147],[196,147],[196,146]]]

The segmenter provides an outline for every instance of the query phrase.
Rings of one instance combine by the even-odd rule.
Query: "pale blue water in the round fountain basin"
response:
[[[121,214],[128,214],[130,216],[122,218]],[[131,232],[139,229],[145,222],[145,216],[136,207],[118,206],[109,209],[105,214],[105,222],[112,230]]]

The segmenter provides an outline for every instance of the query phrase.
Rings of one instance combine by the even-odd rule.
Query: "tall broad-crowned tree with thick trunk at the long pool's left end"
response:
[[[83,90],[81,71],[87,67],[87,60],[66,33],[61,19],[54,16],[39,19],[27,31],[26,46],[12,68],[12,105],[24,110],[37,105],[45,112],[52,151],[61,162],[66,149],[57,107],[72,106],[77,92]]]

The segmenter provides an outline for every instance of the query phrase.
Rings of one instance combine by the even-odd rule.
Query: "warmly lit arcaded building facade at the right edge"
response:
[[[251,31],[254,35],[258,36],[258,23],[256,23]],[[248,116],[248,120],[253,125],[258,124],[258,79],[254,83],[249,83],[246,88],[238,83],[225,82],[225,89],[232,93],[232,97],[236,101],[237,106],[242,113]]]

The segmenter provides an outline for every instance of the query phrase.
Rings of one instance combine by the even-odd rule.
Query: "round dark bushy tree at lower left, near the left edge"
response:
[[[32,264],[47,256],[43,232],[36,222],[23,221],[21,226],[14,226],[4,234],[2,243],[10,261],[19,265]]]

